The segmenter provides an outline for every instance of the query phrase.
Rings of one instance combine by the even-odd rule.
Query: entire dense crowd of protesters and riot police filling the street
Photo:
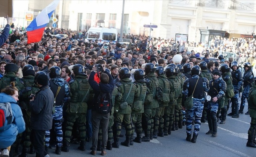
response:
[[[119,148],[122,125],[126,140],[120,144],[127,147],[185,125],[186,140],[196,143],[201,122],[207,120],[206,134],[217,137],[218,121],[225,124],[227,115],[239,118],[246,99],[245,114],[252,117],[247,146],[256,148],[255,39],[216,38],[202,52],[185,52],[189,43],[174,40],[127,35],[127,45],[99,43],[82,39],[82,31],[63,30],[58,33],[69,37],[52,37],[46,30],[40,42],[27,44],[26,34],[18,31],[8,37],[8,27],[0,36],[0,105],[10,102],[18,120],[11,120],[12,141],[5,138],[10,128],[0,127],[3,155],[48,157],[49,148],[60,155],[71,143],[85,151],[87,141],[91,155],[101,151],[105,156],[106,149]],[[238,57],[225,60],[217,53],[210,60],[212,48]]]

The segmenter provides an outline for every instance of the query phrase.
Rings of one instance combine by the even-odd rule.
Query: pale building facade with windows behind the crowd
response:
[[[14,0],[14,5],[16,1],[18,0]],[[51,3],[49,0],[26,2],[28,10],[34,12],[34,18],[39,11]],[[124,2],[123,33],[148,36],[150,29],[143,26],[151,23],[157,25],[157,28],[151,31],[152,37],[175,38],[176,34],[185,34],[188,35],[188,41],[199,42],[200,30],[219,30],[242,35],[250,35],[256,30],[254,0],[125,0]],[[120,30],[122,7],[123,0],[60,0],[59,7],[55,11],[55,16],[58,18],[57,27],[88,30],[92,26],[102,26]],[[207,38],[205,40],[208,40]]]

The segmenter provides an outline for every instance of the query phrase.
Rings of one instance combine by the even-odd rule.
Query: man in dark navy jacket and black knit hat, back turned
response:
[[[52,111],[54,104],[54,95],[48,87],[47,75],[40,74],[37,77],[37,86],[40,89],[35,98],[30,101],[31,107],[31,143],[35,147],[37,157],[46,155],[44,149],[44,135],[46,130],[52,126]]]

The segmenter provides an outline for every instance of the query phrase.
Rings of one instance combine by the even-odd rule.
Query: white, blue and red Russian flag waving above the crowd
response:
[[[39,42],[42,39],[44,29],[50,22],[51,15],[59,4],[60,0],[54,0],[44,8],[37,17],[27,26],[27,44]]]

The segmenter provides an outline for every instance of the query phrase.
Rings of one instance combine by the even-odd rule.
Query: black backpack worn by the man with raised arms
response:
[[[96,110],[103,115],[110,113],[112,110],[112,100],[110,93],[100,92],[97,97]]]

